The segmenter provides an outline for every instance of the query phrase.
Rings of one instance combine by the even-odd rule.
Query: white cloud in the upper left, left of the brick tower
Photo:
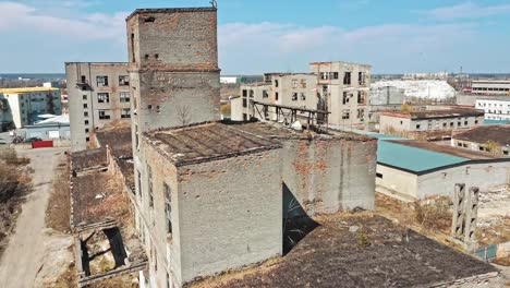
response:
[[[37,8],[28,4],[0,2],[0,32],[28,29],[82,40],[110,39],[124,43],[126,15],[125,12],[97,13],[71,19],[39,13]]]

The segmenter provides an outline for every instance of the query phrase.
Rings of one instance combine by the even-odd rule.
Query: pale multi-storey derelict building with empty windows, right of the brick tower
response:
[[[231,99],[232,120],[364,128],[368,119],[371,67],[315,62],[311,63],[311,71],[266,73],[262,83],[241,85],[241,97]]]

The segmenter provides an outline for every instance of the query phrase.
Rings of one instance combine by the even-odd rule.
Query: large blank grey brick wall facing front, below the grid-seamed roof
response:
[[[280,149],[179,168],[182,280],[282,253]]]

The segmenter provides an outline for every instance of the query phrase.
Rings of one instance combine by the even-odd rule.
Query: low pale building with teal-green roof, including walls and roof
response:
[[[379,141],[376,191],[413,202],[437,195],[453,199],[456,183],[481,192],[509,184],[510,159],[417,141]]]

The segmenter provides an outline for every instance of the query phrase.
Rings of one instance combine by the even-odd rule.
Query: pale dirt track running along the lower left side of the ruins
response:
[[[15,233],[0,261],[0,287],[48,287],[72,262],[72,238],[46,227],[45,214],[62,148],[22,151],[31,159],[33,191],[22,206]]]

